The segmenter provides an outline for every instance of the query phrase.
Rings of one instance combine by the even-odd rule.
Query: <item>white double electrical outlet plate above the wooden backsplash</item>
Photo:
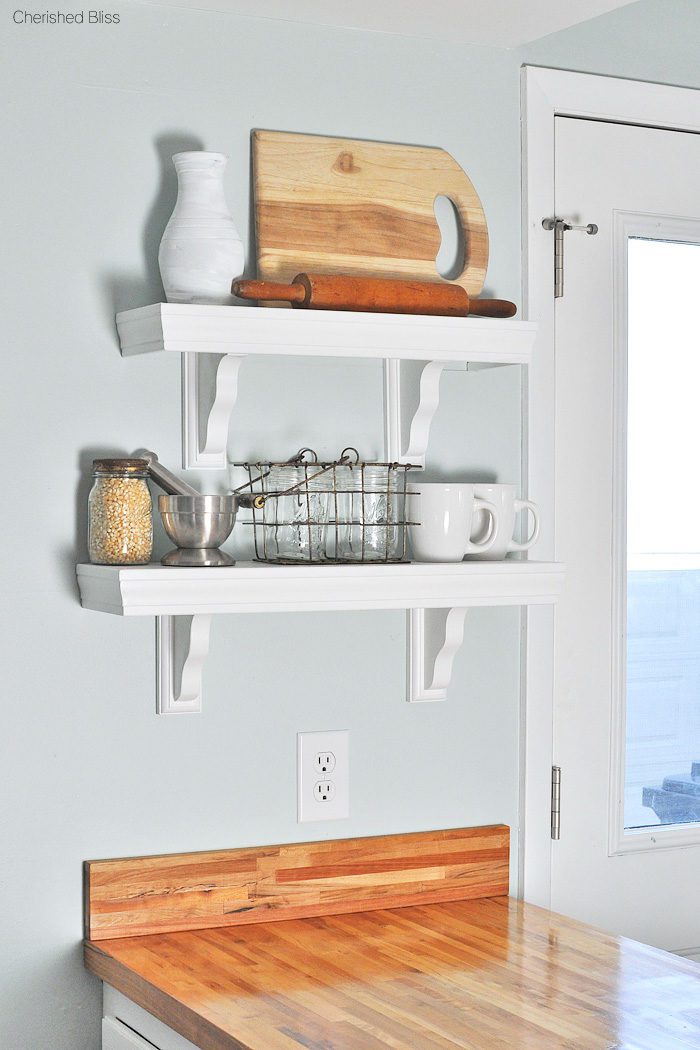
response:
[[[349,733],[297,734],[297,820],[349,816]]]

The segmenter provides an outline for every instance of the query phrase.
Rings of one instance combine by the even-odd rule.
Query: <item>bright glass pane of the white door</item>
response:
[[[624,827],[700,821],[700,245],[628,240]]]

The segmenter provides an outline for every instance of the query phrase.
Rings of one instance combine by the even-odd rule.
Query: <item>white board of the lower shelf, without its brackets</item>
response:
[[[121,616],[543,605],[563,581],[564,567],[546,562],[78,566],[83,607]]]

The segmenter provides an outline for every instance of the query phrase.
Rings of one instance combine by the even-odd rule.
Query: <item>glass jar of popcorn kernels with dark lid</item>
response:
[[[92,461],[87,543],[93,565],[145,565],[153,549],[153,505],[142,459]]]

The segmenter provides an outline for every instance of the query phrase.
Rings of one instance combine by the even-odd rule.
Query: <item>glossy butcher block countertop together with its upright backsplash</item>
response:
[[[306,915],[284,919],[299,910],[284,889],[272,909],[282,921],[251,918],[250,906],[224,908],[218,920],[207,910],[219,888],[237,901],[231,883],[250,869],[252,852],[93,862],[86,966],[201,1050],[700,1048],[700,966],[505,896],[497,885],[504,833],[507,858],[501,827],[429,833],[427,842],[391,836],[262,847],[258,862],[264,859],[260,870],[273,897],[275,883],[300,884],[301,873],[312,870],[309,850],[326,852],[326,863],[316,857],[305,881],[321,882],[326,892],[334,881],[333,901],[317,908],[333,904],[336,914],[309,914],[304,898]],[[440,876],[428,874],[439,870],[436,836],[447,837]],[[344,853],[332,860],[334,845]],[[225,875],[226,856],[236,863]],[[417,868],[420,857],[424,866]],[[188,864],[196,864],[198,879]],[[355,895],[368,868],[374,896],[364,898],[369,910],[360,911]],[[285,882],[281,873],[290,870],[294,880]],[[407,883],[407,870],[423,881]],[[489,870],[496,872],[495,896],[480,896]],[[462,897],[471,899],[438,899],[453,898],[460,882]],[[382,906],[382,896],[393,903],[399,883],[402,900],[409,886],[428,902]],[[167,903],[164,931],[118,936],[131,911],[141,928],[145,914],[151,928],[157,925],[154,898]],[[173,929],[184,921],[182,908],[205,928]]]

